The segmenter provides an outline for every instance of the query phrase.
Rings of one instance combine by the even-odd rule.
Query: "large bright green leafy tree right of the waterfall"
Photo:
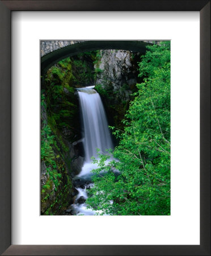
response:
[[[111,215],[170,214],[170,42],[147,47],[113,153],[99,154],[86,203]],[[112,159],[108,162],[109,157]]]

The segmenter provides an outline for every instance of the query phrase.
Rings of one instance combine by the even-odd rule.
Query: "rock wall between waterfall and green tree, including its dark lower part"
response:
[[[95,61],[96,86],[106,110],[108,123],[124,129],[124,119],[132,94],[137,90],[140,53],[125,50],[100,50]],[[113,142],[118,143],[113,137]]]

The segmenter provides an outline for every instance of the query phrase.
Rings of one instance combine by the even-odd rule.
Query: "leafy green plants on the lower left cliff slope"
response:
[[[41,106],[46,112],[44,90],[41,90]],[[61,135],[54,133],[47,121],[43,119],[43,115],[41,115],[41,162],[45,163],[45,177],[47,177],[47,181],[41,187],[42,214],[60,213],[62,207],[66,207],[69,202],[69,191],[72,184],[63,160],[63,152],[65,150],[66,146]],[[64,185],[65,183],[68,184],[68,189]],[[55,197],[56,200],[52,201],[52,198]],[[50,207],[48,207],[49,204]]]

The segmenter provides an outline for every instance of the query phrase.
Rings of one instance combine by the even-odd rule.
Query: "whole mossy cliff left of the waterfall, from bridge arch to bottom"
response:
[[[84,57],[62,60],[50,68],[45,76],[41,106],[47,119],[41,119],[41,161],[46,166],[47,180],[40,190],[41,214],[44,215],[62,214],[73,203],[69,144],[63,131],[69,130],[69,142],[81,137],[78,100],[74,88],[81,82],[94,80],[94,67],[85,70],[85,64],[86,59],[94,60],[95,55],[86,53]]]

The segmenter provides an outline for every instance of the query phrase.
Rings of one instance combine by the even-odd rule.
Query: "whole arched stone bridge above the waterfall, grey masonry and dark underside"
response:
[[[87,40],[87,41],[41,41],[41,76],[58,61],[81,52],[95,51],[97,49],[122,49],[132,52],[146,52],[146,46],[151,41],[132,40]]]

